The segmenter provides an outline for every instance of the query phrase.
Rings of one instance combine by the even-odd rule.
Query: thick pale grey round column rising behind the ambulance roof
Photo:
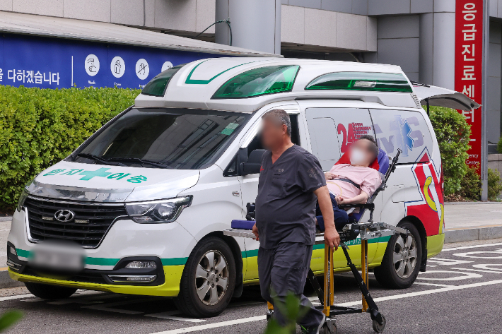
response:
[[[227,18],[234,47],[281,53],[281,0],[216,0],[216,20]],[[224,23],[216,25],[216,43],[230,44]]]

